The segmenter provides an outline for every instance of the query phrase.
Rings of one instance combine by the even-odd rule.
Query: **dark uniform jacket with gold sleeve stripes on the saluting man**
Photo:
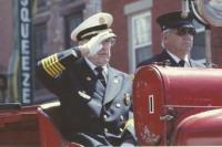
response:
[[[68,139],[85,146],[119,146],[127,138],[134,139],[129,75],[109,66],[104,88],[74,49],[41,60],[37,75],[59,97]]]

